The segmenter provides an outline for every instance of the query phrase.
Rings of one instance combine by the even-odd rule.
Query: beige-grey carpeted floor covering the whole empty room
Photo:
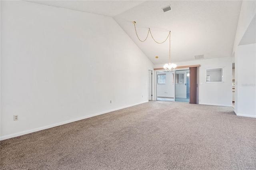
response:
[[[256,119],[150,101],[1,141],[0,169],[255,170]]]

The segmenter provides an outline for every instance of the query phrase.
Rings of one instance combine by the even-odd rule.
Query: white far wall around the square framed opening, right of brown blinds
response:
[[[232,107],[232,57],[177,62],[177,66],[198,65],[199,104]],[[155,65],[161,68],[163,65]],[[223,67],[223,83],[206,83],[206,68]],[[202,83],[202,85],[200,85]]]

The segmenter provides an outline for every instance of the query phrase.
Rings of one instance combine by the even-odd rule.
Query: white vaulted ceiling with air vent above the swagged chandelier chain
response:
[[[68,8],[113,17],[128,36],[154,64],[168,63],[169,41],[155,43],[149,36],[150,28],[156,41],[162,42],[171,31],[171,61],[195,60],[195,55],[205,59],[231,57],[242,1],[194,0],[42,0],[32,1],[49,6]],[[172,10],[162,8],[171,5]],[[159,58],[156,59],[155,57]]]

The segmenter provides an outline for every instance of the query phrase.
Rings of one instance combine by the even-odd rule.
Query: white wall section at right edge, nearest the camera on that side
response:
[[[235,113],[256,117],[256,43],[240,45],[236,52]]]

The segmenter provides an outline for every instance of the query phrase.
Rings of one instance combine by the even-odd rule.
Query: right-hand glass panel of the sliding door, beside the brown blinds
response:
[[[175,71],[175,101],[190,102],[190,70]]]

